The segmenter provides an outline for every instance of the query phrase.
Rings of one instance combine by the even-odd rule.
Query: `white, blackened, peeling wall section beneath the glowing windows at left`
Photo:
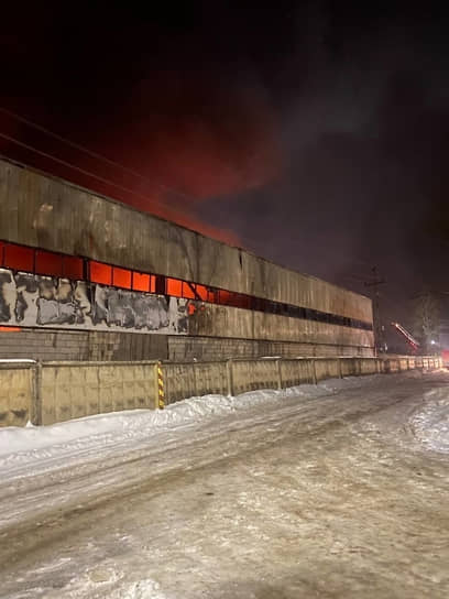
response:
[[[0,323],[187,335],[187,300],[0,269]]]

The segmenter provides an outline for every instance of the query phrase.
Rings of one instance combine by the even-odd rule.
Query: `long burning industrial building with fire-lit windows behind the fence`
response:
[[[0,358],[373,356],[368,297],[0,161]]]

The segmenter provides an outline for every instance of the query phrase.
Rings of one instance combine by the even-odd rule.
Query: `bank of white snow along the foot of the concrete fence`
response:
[[[35,473],[33,465],[57,468],[72,457],[98,456],[107,448],[129,446],[169,431],[191,426],[205,418],[222,417],[238,410],[299,396],[304,400],[332,395],[351,386],[372,385],[383,374],[329,379],[283,391],[259,390],[238,396],[205,395],[168,405],[165,410],[129,410],[98,414],[50,426],[10,426],[0,429],[0,471],[2,477]]]

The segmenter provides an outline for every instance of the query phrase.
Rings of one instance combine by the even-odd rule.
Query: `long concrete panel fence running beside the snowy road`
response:
[[[434,369],[439,358],[298,358],[221,362],[0,363],[0,426],[52,424],[98,413],[158,405],[157,368],[165,403],[184,397],[284,389],[326,378]]]

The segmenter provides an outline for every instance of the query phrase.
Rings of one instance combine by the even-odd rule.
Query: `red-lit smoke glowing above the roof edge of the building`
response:
[[[162,70],[153,73],[151,83],[142,80],[134,87],[128,102],[121,117],[98,115],[98,129],[91,132],[88,146],[138,175],[74,152],[43,132],[36,139],[33,128],[19,126],[6,113],[0,115],[1,130],[11,139],[0,140],[0,152],[139,210],[241,246],[232,231],[204,222],[195,211],[198,203],[231,202],[282,172],[280,127],[265,94],[252,86],[223,87],[221,80],[207,80],[195,69],[180,78]],[[152,102],[163,109],[152,111]],[[189,106],[204,110],[193,118]]]

